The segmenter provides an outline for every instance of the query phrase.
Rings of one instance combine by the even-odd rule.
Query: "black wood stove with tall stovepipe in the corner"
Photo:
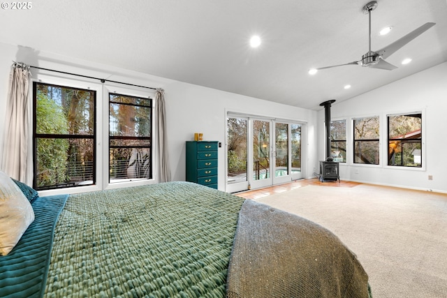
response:
[[[339,177],[339,163],[333,161],[330,154],[330,105],[335,102],[335,99],[327,100],[320,103],[324,107],[324,123],[326,128],[326,160],[320,161],[320,174],[318,178],[323,181],[340,181]]]

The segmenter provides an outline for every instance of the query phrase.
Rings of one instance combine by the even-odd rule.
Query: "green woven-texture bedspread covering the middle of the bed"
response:
[[[189,182],[70,195],[45,297],[225,297],[242,202]]]

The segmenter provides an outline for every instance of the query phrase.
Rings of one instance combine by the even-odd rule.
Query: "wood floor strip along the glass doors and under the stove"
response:
[[[280,184],[275,186],[269,186],[265,188],[254,189],[252,191],[242,191],[240,193],[234,193],[241,198],[245,199],[258,199],[263,198],[268,195],[274,195],[275,193],[282,193],[284,191],[291,191],[295,188],[300,188],[307,185],[318,185],[318,186],[328,186],[328,187],[353,187],[360,183],[352,181],[324,181],[321,182],[317,178],[315,179],[301,179],[296,181],[291,181],[286,184]]]

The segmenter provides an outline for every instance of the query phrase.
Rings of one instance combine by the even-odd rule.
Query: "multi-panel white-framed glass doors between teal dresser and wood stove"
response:
[[[234,193],[302,178],[302,124],[227,118],[226,191]]]

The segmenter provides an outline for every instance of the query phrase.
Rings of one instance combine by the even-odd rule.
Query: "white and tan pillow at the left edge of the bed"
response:
[[[13,250],[33,221],[33,207],[17,184],[0,171],[0,255]]]

